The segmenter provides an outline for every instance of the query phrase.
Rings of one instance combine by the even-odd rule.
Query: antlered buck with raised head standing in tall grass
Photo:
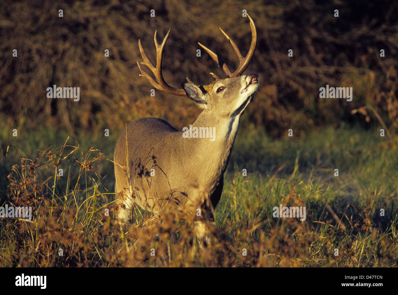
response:
[[[114,152],[119,221],[131,221],[134,204],[155,214],[171,205],[183,208],[189,204],[200,204],[201,216],[205,219],[195,221],[195,232],[199,240],[209,242],[205,220],[215,223],[214,209],[221,198],[224,172],[230,160],[240,116],[259,88],[257,74],[242,75],[257,45],[256,27],[252,18],[248,18],[252,41],[246,57],[242,56],[238,46],[220,28],[239,59],[238,68],[234,72],[219,55],[198,42],[226,74],[226,78],[221,79],[210,73],[215,80],[205,86],[198,86],[186,78],[187,82],[181,84],[182,88],[174,88],[164,80],[163,49],[171,29],[161,44],[157,41],[157,30],[155,31],[156,66],[146,55],[139,39],[143,59],[141,64],[147,66],[154,77],[145,72],[137,61],[139,76],[148,79],[157,90],[175,96],[187,96],[203,111],[191,124],[193,132],[189,137],[183,136],[183,131],[177,130],[167,121],[154,117],[140,118],[126,126]],[[198,129],[206,133],[206,136],[199,137],[196,134],[194,137]],[[213,140],[207,137],[208,130],[209,133],[213,130]],[[185,135],[187,134],[185,130]]]

